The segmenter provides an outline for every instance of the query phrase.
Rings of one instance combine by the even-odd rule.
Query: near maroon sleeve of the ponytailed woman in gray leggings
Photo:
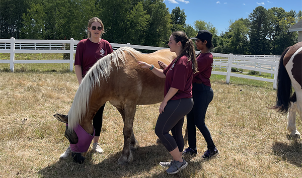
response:
[[[187,67],[183,64],[176,65],[174,68],[171,87],[177,88],[180,91],[184,91],[187,83],[187,78],[188,78]]]

